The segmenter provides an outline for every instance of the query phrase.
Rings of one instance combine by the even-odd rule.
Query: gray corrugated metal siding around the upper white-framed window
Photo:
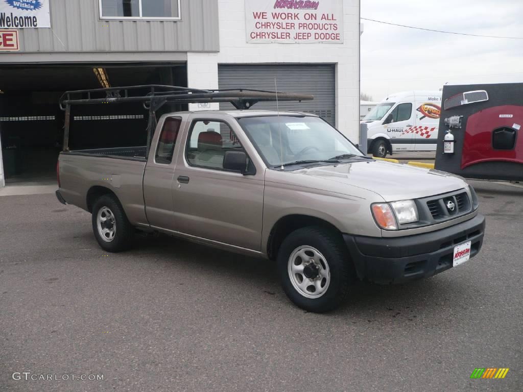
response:
[[[51,29],[19,29],[22,52],[217,52],[217,0],[181,0],[179,21],[100,20],[98,0],[50,0]]]

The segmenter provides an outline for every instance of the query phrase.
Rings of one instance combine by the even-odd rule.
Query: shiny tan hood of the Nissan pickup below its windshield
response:
[[[418,199],[467,187],[458,176],[438,170],[365,160],[347,164],[315,167],[292,172],[328,182],[342,183],[379,194],[385,201]]]

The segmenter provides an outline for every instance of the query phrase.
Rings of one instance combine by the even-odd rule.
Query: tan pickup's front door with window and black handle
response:
[[[176,230],[259,251],[264,168],[257,167],[254,176],[223,168],[226,151],[244,151],[258,159],[243,130],[229,116],[202,118],[195,113],[186,134],[175,169]]]

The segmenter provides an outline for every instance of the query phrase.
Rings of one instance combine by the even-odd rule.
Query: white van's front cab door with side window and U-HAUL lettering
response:
[[[393,152],[414,150],[414,137],[410,132],[414,125],[412,102],[398,103],[385,117],[384,124]]]

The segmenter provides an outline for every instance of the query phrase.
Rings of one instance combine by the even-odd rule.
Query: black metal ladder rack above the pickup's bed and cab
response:
[[[156,111],[165,103],[213,103],[229,102],[236,109],[249,109],[258,102],[310,101],[310,94],[280,93],[279,91],[252,89],[196,89],[179,86],[144,85],[128,87],[97,88],[66,91],[60,97],[60,109],[65,111],[64,151],[69,151],[69,129],[72,105],[95,105],[97,103],[143,102],[149,110],[147,125],[147,154],[156,128]]]

